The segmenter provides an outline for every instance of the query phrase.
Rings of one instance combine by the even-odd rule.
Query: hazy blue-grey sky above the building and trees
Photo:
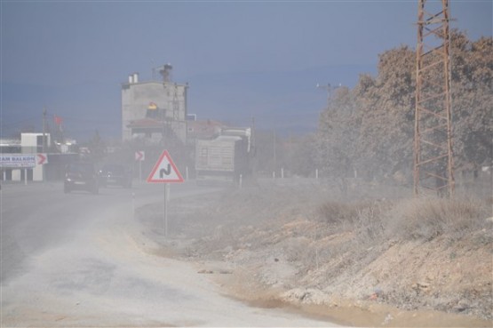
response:
[[[449,3],[451,28],[492,35],[492,0]],[[352,87],[379,53],[417,43],[417,0],[2,0],[1,19],[4,137],[39,128],[44,107],[77,138],[118,137],[121,83],[168,62],[199,119],[313,129],[317,83]]]

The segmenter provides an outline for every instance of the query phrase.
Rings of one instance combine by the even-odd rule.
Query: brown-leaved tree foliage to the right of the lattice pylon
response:
[[[493,38],[475,42],[453,31],[452,121],[457,169],[491,165],[493,158]]]

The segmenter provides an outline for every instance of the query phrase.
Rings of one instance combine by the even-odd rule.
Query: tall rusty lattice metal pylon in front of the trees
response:
[[[449,2],[438,13],[419,0],[416,51],[414,194],[424,189],[441,196],[454,193],[450,98]]]

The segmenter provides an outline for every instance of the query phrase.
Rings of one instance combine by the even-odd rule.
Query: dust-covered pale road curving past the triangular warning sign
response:
[[[171,201],[209,192],[171,186]],[[163,185],[72,192],[3,185],[1,326],[334,326],[222,296],[190,263],[143,252],[133,212]]]

